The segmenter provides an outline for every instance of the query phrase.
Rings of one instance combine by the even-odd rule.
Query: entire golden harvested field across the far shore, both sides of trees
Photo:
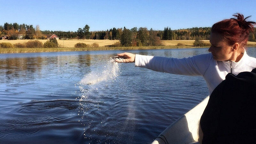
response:
[[[27,39],[19,39],[19,40],[0,40],[0,43],[2,42],[7,42],[11,44],[16,44],[16,43],[26,43],[29,40]],[[45,43],[47,40],[39,40],[42,43]],[[87,39],[87,40],[57,40],[59,47],[74,47],[76,43],[85,43],[85,44],[93,44],[93,43],[98,43],[100,47],[106,46],[106,45],[111,45],[119,40],[93,40],[93,39]],[[187,46],[193,46],[195,40],[163,40],[162,43],[165,46],[175,46],[178,43],[185,44]],[[210,43],[209,40],[203,40],[206,43]],[[64,44],[63,44],[64,43]],[[248,45],[256,45],[256,42],[248,42]]]

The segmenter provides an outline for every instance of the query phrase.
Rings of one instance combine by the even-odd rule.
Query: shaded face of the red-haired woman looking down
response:
[[[209,52],[212,52],[214,60],[227,61],[231,60],[233,47],[228,45],[227,42],[223,40],[222,35],[218,33],[211,33],[210,43],[212,44],[209,48]]]

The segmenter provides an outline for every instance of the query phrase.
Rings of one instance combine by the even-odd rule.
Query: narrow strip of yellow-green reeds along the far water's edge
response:
[[[247,45],[256,47],[256,45]],[[152,50],[152,49],[187,49],[187,48],[206,48],[196,46],[140,46],[140,47],[58,47],[58,48],[0,48],[0,53],[30,53],[30,52],[71,52],[71,51],[106,51],[106,50]]]

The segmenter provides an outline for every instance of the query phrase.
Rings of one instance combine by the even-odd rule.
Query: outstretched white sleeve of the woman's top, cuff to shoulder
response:
[[[135,66],[171,74],[203,76],[211,60],[211,53],[183,59],[136,54]]]

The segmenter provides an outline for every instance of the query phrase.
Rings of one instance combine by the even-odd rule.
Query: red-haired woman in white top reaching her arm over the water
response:
[[[215,23],[211,29],[209,54],[189,58],[175,59],[144,56],[132,53],[120,53],[117,62],[135,62],[135,66],[188,76],[203,76],[209,89],[209,95],[228,73],[235,76],[243,71],[256,68],[256,58],[246,54],[244,46],[253,32],[255,22],[246,21],[246,17],[236,13],[236,17]]]

